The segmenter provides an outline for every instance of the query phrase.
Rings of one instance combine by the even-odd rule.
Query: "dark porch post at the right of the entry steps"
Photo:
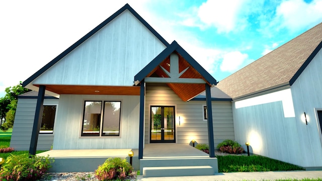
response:
[[[208,140],[209,140],[209,157],[215,157],[215,148],[213,140],[213,123],[212,123],[212,108],[211,108],[211,93],[210,85],[206,83],[206,105],[207,105],[207,122],[208,122]]]

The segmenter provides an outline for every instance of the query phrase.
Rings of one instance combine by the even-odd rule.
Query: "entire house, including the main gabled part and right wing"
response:
[[[131,148],[142,159],[145,144],[195,140],[214,157],[232,139],[250,142],[255,154],[322,168],[321,42],[319,24],[217,84],[125,5],[23,82],[39,94],[19,98],[11,146]],[[53,131],[42,133],[46,105],[57,107]]]

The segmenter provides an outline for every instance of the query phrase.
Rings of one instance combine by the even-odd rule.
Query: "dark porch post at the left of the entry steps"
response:
[[[140,124],[139,124],[139,159],[143,158],[143,129],[144,129],[144,79],[140,85]]]

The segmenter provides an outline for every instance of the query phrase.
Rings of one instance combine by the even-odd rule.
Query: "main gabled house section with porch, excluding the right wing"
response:
[[[144,144],[195,140],[211,145],[214,157],[218,143],[234,139],[231,99],[210,89],[216,83],[176,41],[169,44],[125,5],[25,80],[23,86],[38,92],[37,99],[21,97],[17,113],[26,114],[24,100],[32,100],[27,114],[35,117],[24,135],[31,140],[30,153],[51,145],[54,150],[131,148],[141,159]],[[53,131],[42,134],[43,109],[50,104],[44,94],[59,106]],[[25,122],[17,117],[14,130]],[[45,134],[53,140],[42,143]],[[14,131],[11,146],[26,150],[21,136]]]

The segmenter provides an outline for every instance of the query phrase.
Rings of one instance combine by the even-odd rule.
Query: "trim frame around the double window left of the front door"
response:
[[[85,108],[86,102],[101,102],[104,105],[101,105],[101,121],[100,121],[100,130],[99,135],[83,135],[84,129],[84,118],[85,118]],[[120,115],[119,115],[119,134],[118,135],[103,135],[103,122],[104,122],[104,109],[105,109],[105,102],[119,102],[120,103]],[[106,99],[94,99],[94,100],[83,100],[83,117],[81,120],[81,133],[79,134],[80,138],[120,138],[121,137],[121,126],[122,126],[122,102],[123,100],[106,100]]]

